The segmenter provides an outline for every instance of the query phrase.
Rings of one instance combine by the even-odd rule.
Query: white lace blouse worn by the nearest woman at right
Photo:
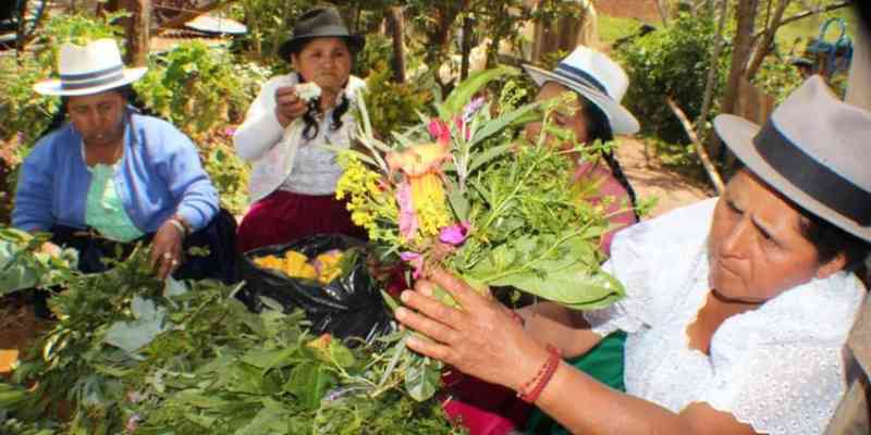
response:
[[[710,291],[715,202],[621,232],[604,266],[627,297],[585,316],[597,334],[629,333],[630,395],[674,412],[706,402],[759,433],[821,434],[846,391],[843,349],[864,289],[844,272],[814,279],[727,319],[711,338],[710,356],[691,349],[687,326]]]

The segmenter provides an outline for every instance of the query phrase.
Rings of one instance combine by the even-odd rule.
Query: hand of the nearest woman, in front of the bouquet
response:
[[[418,281],[416,291],[402,294],[403,302],[416,312],[396,310],[400,322],[431,338],[413,337],[409,348],[514,390],[536,377],[548,351],[524,332],[507,308],[444,271],[432,272],[429,279]],[[437,285],[451,294],[462,310],[433,299]]]

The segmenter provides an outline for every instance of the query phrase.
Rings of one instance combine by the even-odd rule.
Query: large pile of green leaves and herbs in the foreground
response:
[[[50,299],[58,323],[11,382],[0,383],[0,427],[39,435],[462,433],[438,401],[396,388],[407,363],[381,351],[383,343],[352,350],[310,336],[299,312],[247,311],[235,287],[159,282],[144,250],[103,274],[71,272],[60,285]]]

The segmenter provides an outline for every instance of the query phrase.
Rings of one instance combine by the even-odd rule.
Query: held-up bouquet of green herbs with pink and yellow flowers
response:
[[[549,144],[549,136],[567,138],[551,119],[569,110],[573,94],[520,107],[512,86],[495,102],[476,98],[489,82],[516,73],[473,75],[437,105],[437,116],[421,114],[420,125],[387,141],[375,136],[360,104],[364,150],[341,153],[345,173],[336,195],[347,198],[352,219],[385,257],[409,263],[414,277],[440,266],[482,290],[506,286],[574,309],[606,307],[623,295],[599,266],[609,204],[585,200],[596,185],[572,183],[573,159],[596,159],[603,147]],[[542,119],[541,135],[530,141],[519,134]],[[445,291],[437,296],[456,306]],[[395,347],[404,349],[404,341]],[[408,391],[427,399],[441,366],[419,356],[410,361],[403,368]]]

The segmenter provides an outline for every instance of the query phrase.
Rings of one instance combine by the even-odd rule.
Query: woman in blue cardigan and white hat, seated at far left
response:
[[[78,249],[84,272],[105,270],[101,258],[115,245],[150,240],[158,277],[231,281],[234,222],[230,216],[232,227],[223,228],[228,216],[196,147],[171,124],[127,105],[130,84],[146,69],[125,69],[115,42],[99,39],[61,46],[58,72],[34,89],[60,96],[69,122],[25,159],[12,225],[50,232],[52,243]],[[185,261],[187,246],[211,253]]]

